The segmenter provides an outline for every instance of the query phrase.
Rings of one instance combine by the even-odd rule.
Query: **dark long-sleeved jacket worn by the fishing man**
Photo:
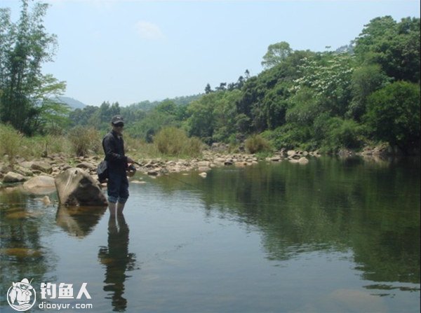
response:
[[[102,148],[105,153],[107,167],[111,172],[126,172],[128,167],[127,157],[124,155],[124,141],[114,130],[102,139]]]

